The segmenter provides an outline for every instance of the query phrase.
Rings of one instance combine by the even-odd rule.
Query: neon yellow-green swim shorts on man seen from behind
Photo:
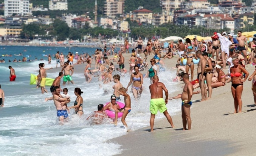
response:
[[[150,100],[149,110],[152,114],[157,114],[159,110],[160,113],[163,113],[167,110],[166,103],[163,98],[153,98]]]

